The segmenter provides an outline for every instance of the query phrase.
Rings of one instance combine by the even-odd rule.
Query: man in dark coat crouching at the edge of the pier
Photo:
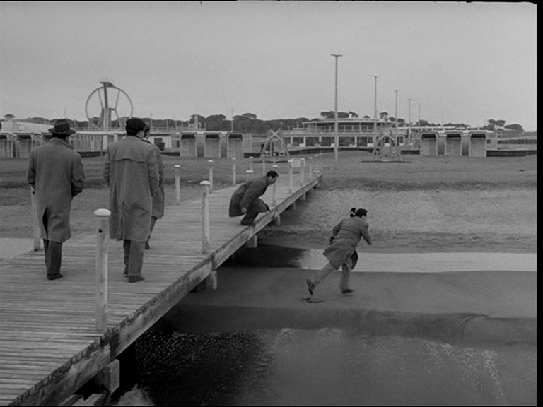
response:
[[[268,171],[264,177],[250,179],[238,187],[230,198],[228,216],[242,216],[241,224],[252,226],[260,212],[269,211],[267,204],[259,199],[264,195],[269,185],[276,182],[279,174],[276,171]]]

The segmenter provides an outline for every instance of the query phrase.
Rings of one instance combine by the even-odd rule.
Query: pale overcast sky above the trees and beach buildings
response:
[[[420,103],[428,122],[535,130],[536,35],[531,3],[0,1],[0,112],[83,120],[106,77],[134,116],[312,119],[334,110],[339,52],[339,111],[373,118],[377,75],[378,112],[397,94],[413,122]]]

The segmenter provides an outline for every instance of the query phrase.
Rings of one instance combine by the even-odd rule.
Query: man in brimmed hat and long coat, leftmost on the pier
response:
[[[85,174],[81,156],[66,141],[76,132],[68,120],[57,120],[49,132],[49,142],[30,151],[27,180],[36,196],[47,278],[56,280],[62,278],[62,243],[71,237],[71,200],[83,191]]]

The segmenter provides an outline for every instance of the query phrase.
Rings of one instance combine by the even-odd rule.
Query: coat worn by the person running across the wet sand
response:
[[[339,269],[353,255],[358,242],[362,238],[368,244],[372,244],[368,223],[360,216],[349,216],[349,218],[341,219],[332,229],[332,235],[334,240],[322,254],[336,269]],[[358,256],[356,258],[358,259]]]

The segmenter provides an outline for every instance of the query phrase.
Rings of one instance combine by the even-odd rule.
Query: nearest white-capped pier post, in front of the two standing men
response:
[[[96,331],[107,331],[107,242],[110,238],[108,209],[94,211],[98,216],[96,231]]]

